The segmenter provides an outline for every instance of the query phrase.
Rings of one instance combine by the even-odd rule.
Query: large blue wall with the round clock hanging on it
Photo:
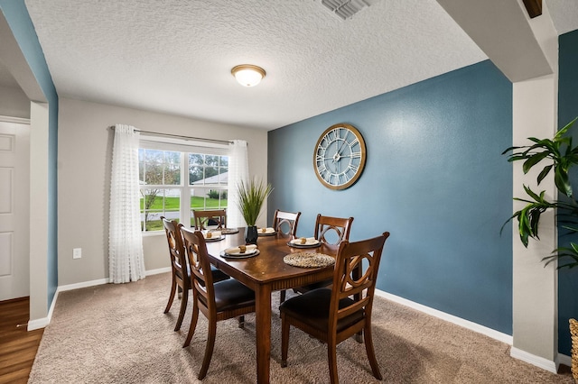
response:
[[[347,92],[344,89],[343,92]],[[352,187],[322,187],[312,167],[320,134],[350,123],[366,169]],[[353,216],[350,240],[389,231],[378,288],[512,334],[512,85],[483,61],[268,133],[276,208]],[[269,217],[269,220],[272,218]]]

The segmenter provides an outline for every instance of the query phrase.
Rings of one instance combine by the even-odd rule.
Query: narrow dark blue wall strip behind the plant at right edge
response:
[[[558,38],[558,125],[564,127],[578,116],[578,31],[564,33]],[[578,142],[578,124],[572,128],[573,143]],[[576,190],[578,175],[573,175]],[[559,246],[567,246],[571,239],[558,227]],[[573,238],[573,242],[577,242]],[[558,271],[558,351],[571,354],[572,340],[568,320],[578,319],[578,269]]]

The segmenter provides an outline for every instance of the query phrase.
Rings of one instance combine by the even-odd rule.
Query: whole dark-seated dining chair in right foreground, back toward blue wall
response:
[[[287,366],[289,330],[293,325],[327,343],[331,383],[338,383],[337,345],[363,333],[371,371],[381,380],[371,335],[371,309],[378,279],[379,261],[389,233],[359,242],[340,242],[335,260],[332,288],[317,288],[287,299],[281,306],[281,366]],[[356,274],[363,262],[362,276]],[[354,300],[350,297],[360,296]]]

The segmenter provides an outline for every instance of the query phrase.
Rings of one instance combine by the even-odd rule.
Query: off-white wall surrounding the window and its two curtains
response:
[[[251,175],[266,179],[267,133],[61,97],[58,150],[59,286],[108,277],[108,198],[116,123],[158,133],[246,140]],[[264,216],[264,215],[263,215]],[[265,221],[266,217],[262,217]],[[146,270],[169,267],[164,234],[144,237]],[[72,259],[72,249],[82,258]]]

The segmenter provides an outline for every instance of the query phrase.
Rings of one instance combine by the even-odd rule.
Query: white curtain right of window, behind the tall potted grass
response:
[[[238,209],[237,186],[239,182],[249,179],[249,160],[247,157],[247,142],[234,140],[230,144],[228,155],[228,208],[227,226],[246,226],[245,219]]]

